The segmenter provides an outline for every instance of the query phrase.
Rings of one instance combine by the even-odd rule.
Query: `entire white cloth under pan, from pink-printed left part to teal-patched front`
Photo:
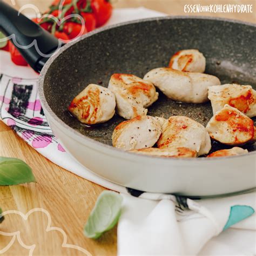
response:
[[[164,14],[145,8],[116,9],[107,25],[156,16]],[[133,191],[98,177],[65,152],[52,134],[38,99],[37,79],[32,69],[14,65],[9,53],[0,51],[1,119],[53,163],[122,194],[119,255],[256,254],[255,192],[187,199],[189,209],[184,210],[172,195]]]

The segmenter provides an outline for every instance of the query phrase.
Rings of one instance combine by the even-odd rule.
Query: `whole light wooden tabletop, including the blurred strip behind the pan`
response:
[[[10,2],[11,0],[4,0]],[[17,0],[16,8],[25,3],[36,3],[43,11],[48,0]],[[212,4],[212,1],[179,1],[179,0],[115,0],[115,6],[145,6],[170,15],[185,15],[185,4]],[[253,4],[253,14],[211,14],[211,16],[240,19],[255,22],[255,1],[214,1],[216,3]],[[204,14],[200,14],[204,15]],[[1,64],[1,63],[0,63]],[[20,158],[28,163],[35,174],[37,183],[19,186],[0,187],[0,207],[3,211],[17,210],[27,213],[39,207],[50,214],[51,226],[61,228],[66,234],[66,243],[82,247],[87,254],[116,255],[116,228],[107,232],[99,240],[87,239],[83,235],[83,226],[95,204],[100,192],[104,190],[96,184],[77,177],[45,159],[8,126],[0,121],[0,156]],[[84,255],[85,251],[62,246],[63,232],[47,231],[48,215],[44,212],[33,212],[27,220],[18,214],[9,214],[1,224],[0,232],[20,231],[20,238],[25,245],[35,244],[34,255]],[[16,237],[0,235],[0,253],[4,255],[28,255],[29,248],[24,248]],[[12,244],[13,242],[13,244]],[[6,252],[1,251],[10,246]],[[80,249],[82,250],[82,249]]]

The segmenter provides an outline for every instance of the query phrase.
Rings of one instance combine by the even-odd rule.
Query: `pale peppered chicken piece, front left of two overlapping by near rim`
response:
[[[123,150],[152,147],[161,134],[161,125],[151,116],[137,116],[117,125],[112,134],[114,147]]]

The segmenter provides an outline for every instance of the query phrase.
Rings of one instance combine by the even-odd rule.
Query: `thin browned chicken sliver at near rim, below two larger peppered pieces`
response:
[[[131,150],[130,152],[147,154],[157,157],[196,157],[197,152],[187,147],[167,147],[167,149],[158,149],[150,147],[149,149]]]

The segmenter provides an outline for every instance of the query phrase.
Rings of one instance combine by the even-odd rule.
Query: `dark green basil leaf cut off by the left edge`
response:
[[[0,157],[0,185],[18,185],[36,182],[31,168],[17,158]]]

